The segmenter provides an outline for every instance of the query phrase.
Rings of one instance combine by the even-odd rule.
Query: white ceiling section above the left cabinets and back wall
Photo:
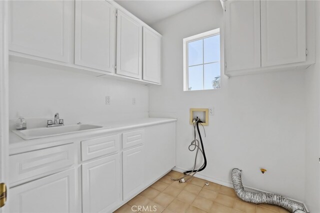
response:
[[[192,7],[204,0],[115,0],[148,25]]]

